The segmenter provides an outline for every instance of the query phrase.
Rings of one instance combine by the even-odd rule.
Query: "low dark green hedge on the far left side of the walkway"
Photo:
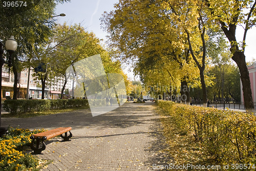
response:
[[[41,112],[51,109],[89,107],[87,99],[54,99],[54,100],[5,100],[3,108],[11,114]]]

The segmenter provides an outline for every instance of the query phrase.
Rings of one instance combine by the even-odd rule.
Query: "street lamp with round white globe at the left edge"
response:
[[[10,56],[8,57],[8,62],[5,61],[3,58],[4,54],[4,48],[3,48],[3,43],[0,42],[0,136],[2,136],[5,133],[5,128],[1,127],[1,113],[2,113],[2,68],[4,63],[8,63],[8,66],[11,67],[12,63],[12,54],[13,52],[17,49],[17,41],[15,41],[14,36],[11,36],[5,43],[5,47],[7,52],[9,52]]]

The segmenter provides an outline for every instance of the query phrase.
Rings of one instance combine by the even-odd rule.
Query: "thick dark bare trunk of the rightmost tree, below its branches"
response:
[[[240,70],[240,78],[243,86],[244,106],[246,111],[254,114],[253,98],[251,93],[251,83],[249,71],[246,66],[245,55],[242,52],[234,52],[232,59],[237,63]],[[246,97],[246,98],[245,98]]]

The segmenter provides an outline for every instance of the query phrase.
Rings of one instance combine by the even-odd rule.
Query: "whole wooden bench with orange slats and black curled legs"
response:
[[[69,141],[69,139],[72,137],[71,127],[59,127],[54,130],[49,130],[43,133],[38,133],[30,136],[30,139],[32,139],[30,147],[34,151],[34,154],[41,154],[42,151],[46,149],[46,144],[44,141],[51,139],[53,137],[56,137],[60,135],[61,138],[63,138],[63,141]],[[68,136],[69,132],[69,136]],[[65,136],[62,136],[62,134],[65,133]],[[36,140],[36,146],[34,146],[34,141]],[[42,143],[42,146],[39,147],[40,142]]]

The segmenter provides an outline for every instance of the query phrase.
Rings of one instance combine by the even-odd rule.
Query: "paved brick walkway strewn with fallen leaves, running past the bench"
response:
[[[53,129],[71,126],[71,141],[47,141],[41,159],[53,160],[43,170],[153,170],[153,164],[172,161],[164,149],[158,107],[153,102],[125,103],[92,117],[90,110],[38,116],[2,118],[3,126]]]

